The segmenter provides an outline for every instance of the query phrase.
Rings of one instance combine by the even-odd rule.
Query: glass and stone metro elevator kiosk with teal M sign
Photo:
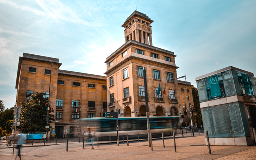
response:
[[[254,74],[232,66],[196,78],[204,130],[210,145],[255,144]],[[207,139],[205,139],[207,145]]]

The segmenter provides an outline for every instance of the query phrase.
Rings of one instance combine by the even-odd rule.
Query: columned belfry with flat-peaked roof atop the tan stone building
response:
[[[124,22],[125,42],[138,41],[152,46],[151,20],[146,14],[134,11]]]

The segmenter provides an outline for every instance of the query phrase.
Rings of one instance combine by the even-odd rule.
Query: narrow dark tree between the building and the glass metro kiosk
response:
[[[197,126],[201,126],[203,124],[202,114],[200,108],[200,101],[198,96],[198,90],[196,87],[192,86],[192,95],[194,100],[194,107],[192,108],[192,121],[197,123]]]

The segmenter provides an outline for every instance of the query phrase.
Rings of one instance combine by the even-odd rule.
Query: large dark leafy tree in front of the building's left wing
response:
[[[46,93],[36,93],[26,102],[22,101],[22,111],[20,117],[20,129],[23,133],[45,132],[47,102],[48,97],[44,98]],[[55,121],[52,107],[49,110],[49,122]],[[45,115],[45,116],[44,116]]]

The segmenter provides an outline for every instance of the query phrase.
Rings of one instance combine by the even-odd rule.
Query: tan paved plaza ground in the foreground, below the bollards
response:
[[[100,144],[99,147],[86,146],[82,143],[51,145],[23,153],[23,159],[256,159],[256,146],[211,146],[212,155],[209,155],[205,145],[204,135],[176,139],[177,152],[174,152],[173,139],[165,139],[163,148],[162,139],[153,140],[153,151],[148,141]],[[10,154],[0,155],[0,159],[14,159]]]

